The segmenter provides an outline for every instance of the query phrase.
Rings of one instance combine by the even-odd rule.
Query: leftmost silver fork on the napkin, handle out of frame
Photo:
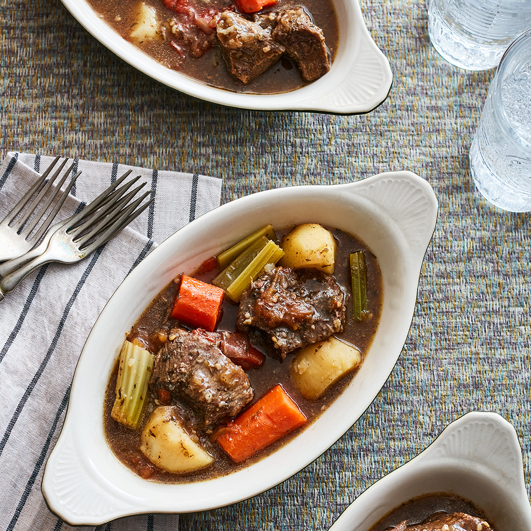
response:
[[[54,159],[52,164],[50,164],[48,168],[46,168],[45,172],[40,176],[38,181],[28,190],[28,192],[23,196],[23,198],[13,207],[11,212],[9,212],[0,223],[0,243],[2,244],[0,249],[0,262],[2,262],[3,260],[10,260],[11,258],[15,258],[15,256],[20,256],[26,251],[29,251],[37,243],[39,243],[40,239],[46,233],[46,230],[57,215],[57,212],[65,202],[68,193],[70,193],[70,190],[72,189],[72,186],[75,183],[75,179],[77,179],[81,174],[81,172],[77,172],[72,177],[70,183],[68,183],[68,186],[66,187],[66,190],[62,192],[53,210],[46,216],[46,218],[42,222],[42,225],[39,227],[35,234],[31,235],[32,230],[35,229],[35,227],[45,215],[50,205],[52,205],[59,193],[61,193],[61,186],[63,186],[64,182],[66,181],[66,178],[68,177],[68,174],[70,174],[72,168],[74,167],[74,163],[72,163],[70,167],[68,167],[64,175],[59,180],[59,183],[57,184],[55,189],[48,196],[46,201],[41,204],[42,199],[46,196],[46,194],[54,184],[55,179],[57,178],[59,173],[61,173],[68,159],[63,160],[63,162],[61,163],[61,165],[59,165],[52,177],[49,178],[49,181],[46,183],[46,185],[42,187],[42,190],[39,192],[36,198],[33,199],[33,201],[31,201],[31,204],[25,209],[23,215],[18,220],[13,222],[16,216],[18,216],[19,213],[24,209],[24,206],[28,204],[33,195],[35,195],[35,193],[39,190],[42,184],[44,184],[46,178],[52,172],[59,158],[61,157],[56,157]],[[33,217],[31,218],[32,215]],[[30,218],[31,221],[29,221]]]

